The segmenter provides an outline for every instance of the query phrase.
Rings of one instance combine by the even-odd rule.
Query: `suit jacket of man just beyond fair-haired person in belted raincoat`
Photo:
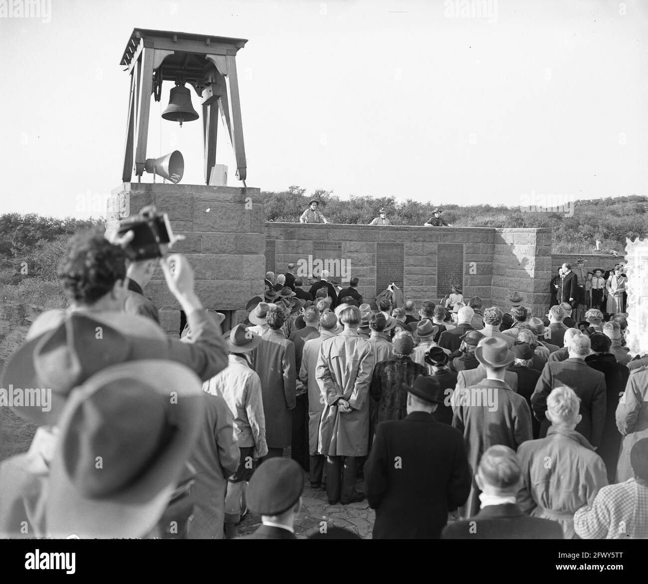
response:
[[[531,405],[535,417],[542,424],[540,438],[547,435],[551,422],[544,412],[547,410],[547,398],[555,387],[567,385],[581,398],[581,423],[575,430],[586,438],[592,446],[601,444],[603,428],[605,427],[605,376],[581,359],[566,359],[565,361],[549,361],[542,370],[542,375],[535,386]]]

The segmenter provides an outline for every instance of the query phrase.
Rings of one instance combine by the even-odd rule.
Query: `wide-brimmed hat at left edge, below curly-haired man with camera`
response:
[[[56,421],[73,388],[98,371],[130,361],[135,344],[151,358],[168,356],[168,337],[155,322],[126,313],[52,313],[51,328],[28,333],[9,359],[0,383],[21,390],[12,409],[38,425]],[[34,326],[38,326],[34,322]],[[44,325],[47,326],[47,325]],[[46,400],[47,403],[43,403]]]

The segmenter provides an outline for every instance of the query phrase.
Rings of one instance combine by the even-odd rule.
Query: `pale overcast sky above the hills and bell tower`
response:
[[[248,186],[435,204],[646,194],[645,1],[49,6],[0,17],[0,212],[103,214],[121,183],[119,61],[134,27],[249,39],[237,55]],[[171,85],[152,102],[148,157],[181,150],[182,182],[202,184],[202,123],[159,118]],[[229,144],[217,162],[238,184]]]

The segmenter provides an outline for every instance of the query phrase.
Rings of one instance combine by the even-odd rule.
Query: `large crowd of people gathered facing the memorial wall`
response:
[[[570,288],[534,315],[457,285],[372,308],[358,278],[289,265],[224,331],[187,259],[159,263],[180,339],[144,293],[157,260],[71,239],[69,308],[34,320],[3,374],[51,399],[13,402],[38,430],[0,464],[1,536],[231,539],[251,510],[251,537],[295,539],[309,480],[366,500],[375,539],[648,537],[648,355],[620,304],[573,318]]]

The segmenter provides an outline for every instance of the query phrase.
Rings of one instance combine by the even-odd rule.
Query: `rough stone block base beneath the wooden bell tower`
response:
[[[166,212],[172,229],[185,236],[173,251],[187,254],[205,306],[242,310],[252,295],[263,290],[266,236],[258,188],[124,183],[108,201],[106,230],[115,229],[120,219],[145,205]],[[156,270],[146,294],[164,314],[164,330],[178,333],[178,302],[161,270]]]

